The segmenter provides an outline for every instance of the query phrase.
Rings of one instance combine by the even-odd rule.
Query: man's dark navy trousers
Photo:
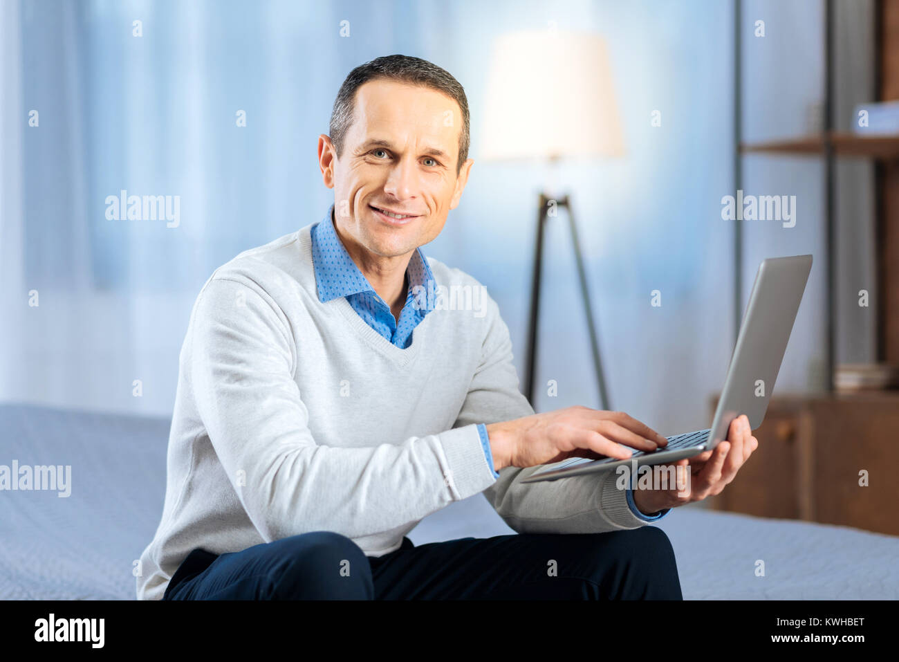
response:
[[[164,600],[681,600],[671,542],[654,526],[462,538],[367,557],[317,531],[221,555],[192,550]]]

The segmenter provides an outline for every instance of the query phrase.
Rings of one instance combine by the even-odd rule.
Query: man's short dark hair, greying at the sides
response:
[[[468,100],[462,85],[459,85],[448,71],[428,62],[422,58],[413,58],[408,55],[386,55],[375,58],[359,67],[354,68],[346,80],[343,81],[337,98],[334,100],[334,110],[331,112],[331,124],[329,126],[330,138],[337,157],[343,153],[346,132],[352,126],[353,109],[355,107],[356,90],[363,83],[370,80],[386,78],[410,85],[430,87],[458,103],[462,111],[462,133],[458,138],[458,163],[456,174],[462,168],[468,158],[469,119]]]

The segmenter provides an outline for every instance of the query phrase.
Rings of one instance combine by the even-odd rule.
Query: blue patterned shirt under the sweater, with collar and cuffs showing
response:
[[[414,287],[419,285],[427,288],[428,281],[433,281],[431,267],[424,258],[422,249],[415,249],[409,265],[406,267],[405,275],[409,282],[409,289],[405,305],[397,320],[394,318],[390,306],[371,287],[369,280],[360,272],[359,267],[347,253],[340,237],[337,237],[334,229],[334,205],[328,208],[325,218],[312,227],[311,239],[318,300],[325,303],[345,297],[352,309],[369,327],[387,338],[391,344],[395,344],[400,349],[407,349],[412,344],[415,327],[430,312],[427,307],[413,305]],[[494,479],[498,479],[500,475],[494,470],[494,456],[490,451],[490,437],[487,434],[486,425],[478,424],[477,431],[481,435],[481,446],[484,448],[487,464],[490,465]],[[665,510],[654,516],[640,513],[634,505],[634,497],[632,497],[630,489],[628,489],[628,505],[637,517],[646,521],[657,520],[668,512]]]

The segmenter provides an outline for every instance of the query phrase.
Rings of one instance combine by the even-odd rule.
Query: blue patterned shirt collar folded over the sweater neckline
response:
[[[328,208],[325,218],[316,223],[311,231],[312,263],[316,273],[318,300],[322,303],[360,292],[375,293],[369,280],[360,272],[350,254],[346,252],[340,237],[337,237],[333,213],[334,205],[332,204]],[[409,292],[416,285],[427,288],[428,281],[433,280],[431,267],[428,265],[421,247],[415,249],[405,273],[409,276]]]

